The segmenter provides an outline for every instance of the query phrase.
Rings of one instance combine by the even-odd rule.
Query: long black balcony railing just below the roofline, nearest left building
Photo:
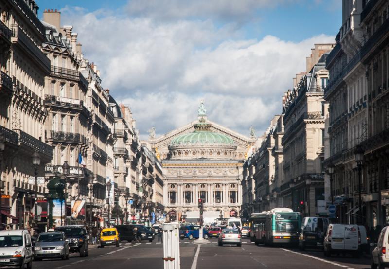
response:
[[[15,0],[14,0],[15,1]],[[18,0],[24,3],[23,0]],[[39,21],[39,20],[38,20]],[[43,25],[42,25],[43,26]],[[35,57],[36,62],[38,62],[41,67],[49,74],[50,73],[50,59],[39,49],[39,47],[31,41],[23,30],[21,30],[18,25],[11,26],[12,36],[17,38],[17,43],[22,47],[26,48],[27,51],[30,51],[30,54]],[[43,31],[45,33],[45,31]]]

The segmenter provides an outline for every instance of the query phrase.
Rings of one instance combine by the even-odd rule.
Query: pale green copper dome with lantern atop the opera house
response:
[[[195,124],[195,131],[192,133],[177,136],[172,140],[170,145],[177,146],[179,144],[229,144],[233,145],[234,141],[227,135],[212,132],[211,125],[201,119],[199,123]]]

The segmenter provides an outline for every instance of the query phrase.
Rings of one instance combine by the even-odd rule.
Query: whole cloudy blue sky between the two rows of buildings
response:
[[[333,42],[340,0],[36,0],[61,11],[104,88],[130,106],[141,137],[197,117],[257,135],[305,70],[314,43]]]

